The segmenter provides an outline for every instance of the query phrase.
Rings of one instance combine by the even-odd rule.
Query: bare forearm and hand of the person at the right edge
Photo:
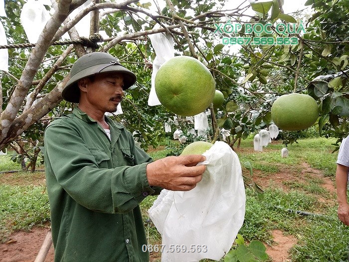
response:
[[[337,164],[336,186],[337,199],[339,203],[338,217],[347,226],[349,226],[349,205],[347,202],[347,184],[349,167]]]

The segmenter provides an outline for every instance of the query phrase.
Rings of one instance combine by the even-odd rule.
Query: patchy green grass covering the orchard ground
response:
[[[292,262],[340,262],[348,260],[349,230],[337,218],[336,194],[324,188],[324,179],[311,173],[302,173],[306,167],[320,170],[334,180],[338,153],[331,153],[333,139],[314,138],[298,140],[289,145],[288,158],[281,158],[280,142],[273,142],[263,152],[253,151],[253,138],[241,141],[236,149],[240,162],[249,162],[254,176],[276,182],[280,172],[293,175],[294,179],[282,181],[287,190],[271,183],[262,195],[246,189],[245,221],[239,231],[248,241],[260,240],[275,245],[272,231],[282,230],[297,238],[290,251]],[[166,157],[169,149],[151,150],[154,160]],[[0,170],[19,170],[20,166],[0,156]],[[243,168],[248,174],[248,170]],[[18,172],[12,175],[12,184],[4,183],[0,174],[0,240],[17,229],[30,229],[49,221],[49,206],[44,186],[17,183],[20,179],[40,174]],[[258,179],[257,179],[258,180]],[[258,181],[257,181],[258,182]],[[28,184],[28,183],[27,183]],[[157,197],[147,197],[141,204],[149,244],[161,245],[161,235],[148,216],[148,209]],[[324,202],[325,201],[325,202]],[[307,214],[314,215],[302,215]],[[152,261],[161,261],[160,254],[152,254]],[[211,260],[203,260],[202,262]]]

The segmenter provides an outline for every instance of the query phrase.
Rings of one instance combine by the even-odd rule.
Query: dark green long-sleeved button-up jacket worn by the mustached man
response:
[[[45,169],[55,262],[146,262],[139,203],[149,186],[151,157],[132,134],[106,117],[111,141],[79,109],[45,130]]]

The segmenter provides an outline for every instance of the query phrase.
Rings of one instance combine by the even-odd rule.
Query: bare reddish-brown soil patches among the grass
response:
[[[282,188],[284,190],[290,190],[287,182],[299,182],[309,183],[309,177],[322,179],[324,187],[330,194],[335,194],[335,184],[328,177],[324,177],[321,171],[311,168],[308,164],[302,164],[302,172],[296,173],[290,169],[281,170],[273,176],[265,176],[258,170],[254,171],[254,180],[262,188]],[[307,179],[308,178],[308,179]],[[286,182],[286,183],[285,183]],[[28,176],[28,178],[18,178],[14,173],[7,173],[0,177],[0,183],[11,185],[42,185],[44,183],[43,173],[37,173],[35,175]],[[323,200],[328,203],[328,199]],[[332,203],[331,203],[332,204]],[[49,225],[46,227],[34,227],[30,232],[14,232],[8,238],[8,241],[4,244],[0,244],[0,262],[33,262],[40,250],[40,247],[45,239],[45,236],[49,230]],[[289,250],[293,245],[297,243],[297,239],[293,236],[284,235],[284,232],[280,230],[274,230],[272,232],[273,245],[268,246],[267,253],[272,258],[273,262],[289,262]],[[54,250],[53,246],[49,250],[45,262],[53,262]],[[159,257],[152,257],[151,261],[159,261]]]

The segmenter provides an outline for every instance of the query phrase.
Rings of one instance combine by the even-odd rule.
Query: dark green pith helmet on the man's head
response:
[[[79,103],[78,80],[104,72],[123,73],[124,90],[136,82],[136,75],[122,66],[114,56],[104,52],[93,52],[85,54],[75,61],[70,71],[70,80],[62,90],[62,98],[72,103]]]

